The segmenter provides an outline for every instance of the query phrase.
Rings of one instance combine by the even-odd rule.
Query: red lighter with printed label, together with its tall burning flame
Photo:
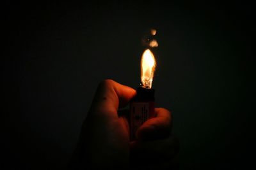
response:
[[[147,49],[141,57],[141,85],[130,105],[130,136],[131,141],[136,139],[136,131],[148,120],[154,117],[154,92],[152,81],[156,67],[153,53]]]

